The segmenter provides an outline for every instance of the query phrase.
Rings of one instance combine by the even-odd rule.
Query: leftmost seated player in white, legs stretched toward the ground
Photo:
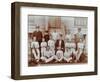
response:
[[[36,37],[33,37],[31,48],[32,48],[33,57],[35,58],[36,62],[39,62],[40,51],[39,51],[39,43],[36,41]]]

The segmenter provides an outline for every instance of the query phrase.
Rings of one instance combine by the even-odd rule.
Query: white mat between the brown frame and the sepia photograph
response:
[[[20,8],[20,75],[78,73],[94,71],[94,11],[51,8]],[[60,13],[59,13],[60,12]],[[88,17],[88,63],[28,67],[28,15]]]

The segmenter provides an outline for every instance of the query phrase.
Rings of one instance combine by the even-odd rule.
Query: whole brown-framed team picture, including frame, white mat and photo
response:
[[[97,7],[11,4],[11,78],[97,74]]]

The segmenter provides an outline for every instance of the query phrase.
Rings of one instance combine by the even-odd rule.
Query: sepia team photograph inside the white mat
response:
[[[28,66],[88,63],[88,18],[28,15]]]

